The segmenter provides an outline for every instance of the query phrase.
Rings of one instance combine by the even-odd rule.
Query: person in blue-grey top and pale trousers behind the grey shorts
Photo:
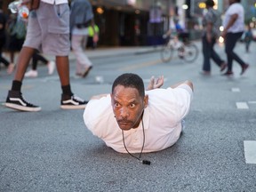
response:
[[[71,47],[76,56],[76,75],[85,77],[92,69],[92,61],[84,52],[88,38],[88,27],[95,25],[92,4],[88,0],[74,0],[70,7]],[[92,30],[93,42],[98,42],[98,34],[94,28]]]

